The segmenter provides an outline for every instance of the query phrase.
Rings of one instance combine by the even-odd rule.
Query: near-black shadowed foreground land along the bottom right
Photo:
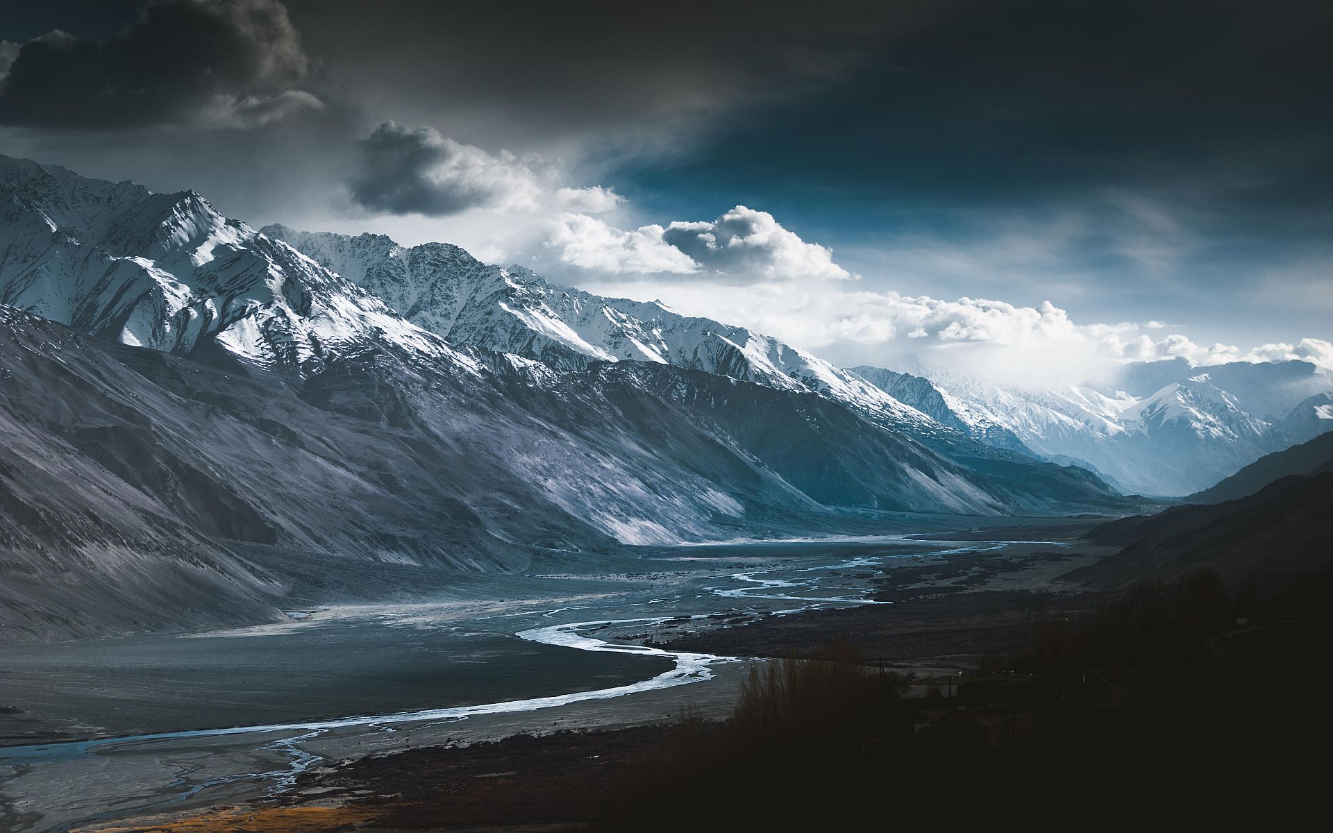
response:
[[[1330,596],[1330,574],[1265,598],[1210,573],[1141,582],[1030,622],[1025,650],[989,658],[998,672],[924,697],[850,645],[792,645],[812,660],[752,673],[724,722],[413,749],[308,773],[277,801],[99,829],[1284,824],[1321,794],[1308,754],[1326,737]]]

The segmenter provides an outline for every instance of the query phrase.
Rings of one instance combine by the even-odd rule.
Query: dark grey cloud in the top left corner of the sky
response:
[[[0,45],[0,121],[51,128],[252,127],[323,103],[277,0],[155,0],[107,40]]]

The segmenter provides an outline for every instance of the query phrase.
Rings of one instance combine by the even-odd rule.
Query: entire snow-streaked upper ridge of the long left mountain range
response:
[[[957,494],[926,489],[898,508],[1000,512],[1026,498],[998,481],[1032,481],[1021,469],[1045,465],[974,442],[774,339],[657,303],[555,287],[521,268],[481,264],[457,247],[256,231],[195,192],[157,195],[25,160],[5,159],[0,177],[9,220],[0,303],[97,337],[181,355],[221,348],[299,375],[377,345],[473,376],[493,372],[488,356],[504,353],[560,371],[644,361],[789,395],[813,392],[928,444],[934,453],[921,458],[925,469],[908,472],[898,461],[902,476],[938,482],[941,470],[954,469],[950,481],[965,484]],[[978,460],[984,470],[973,465]],[[1050,466],[1041,476],[1081,480]]]

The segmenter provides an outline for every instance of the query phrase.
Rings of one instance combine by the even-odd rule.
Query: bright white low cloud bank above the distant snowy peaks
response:
[[[1318,339],[1244,351],[1198,344],[1148,324],[1082,324],[1049,301],[906,296],[798,281],[752,285],[686,280],[605,280],[589,289],[619,297],[660,297],[690,315],[744,324],[842,364],[949,367],[1014,387],[1045,388],[1101,379],[1126,361],[1184,357],[1196,365],[1301,359],[1333,369],[1333,345]],[[1149,335],[1152,333],[1152,335]]]

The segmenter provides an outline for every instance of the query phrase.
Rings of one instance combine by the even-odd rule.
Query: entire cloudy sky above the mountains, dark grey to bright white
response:
[[[0,153],[842,364],[1333,367],[1333,4],[0,0]]]

